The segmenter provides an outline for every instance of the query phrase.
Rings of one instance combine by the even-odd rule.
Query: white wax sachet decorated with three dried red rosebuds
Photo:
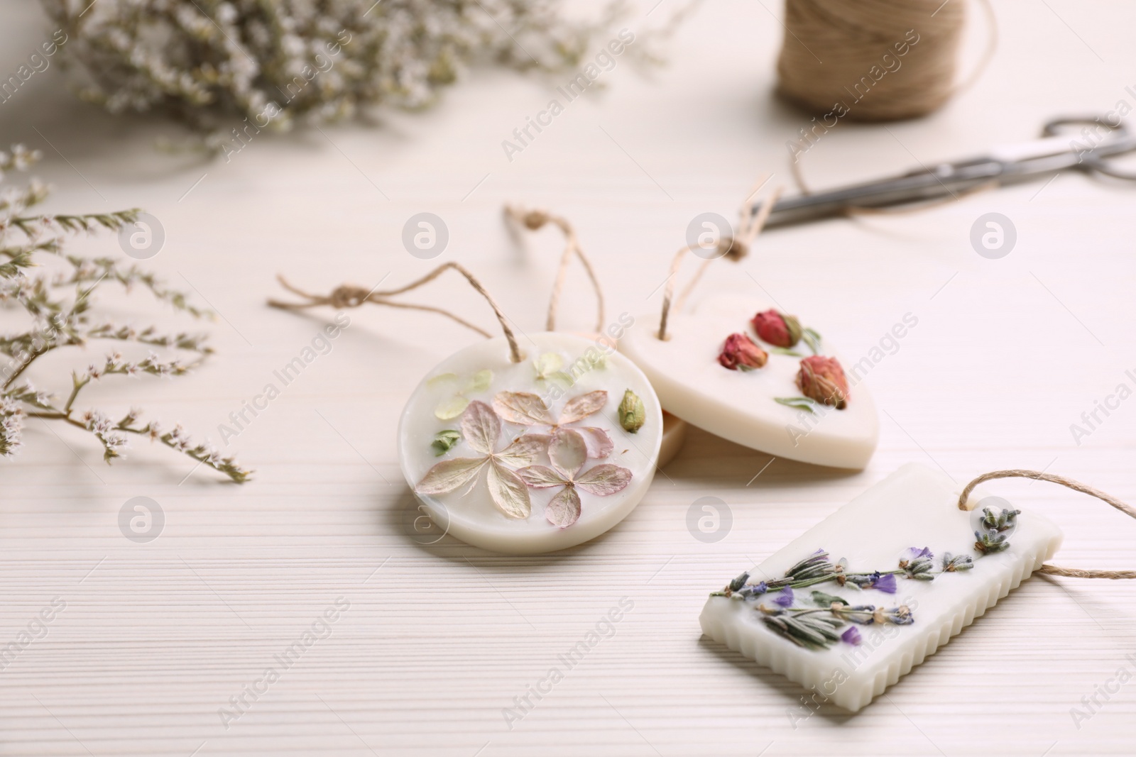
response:
[[[876,405],[830,345],[792,316],[730,303],[635,320],[619,340],[668,411],[777,457],[860,469],[876,449]]]

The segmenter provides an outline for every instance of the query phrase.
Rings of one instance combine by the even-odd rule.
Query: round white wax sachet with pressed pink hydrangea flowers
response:
[[[659,398],[627,358],[569,334],[504,338],[442,361],[399,423],[399,460],[431,519],[484,549],[593,539],[640,503],[662,441]]]

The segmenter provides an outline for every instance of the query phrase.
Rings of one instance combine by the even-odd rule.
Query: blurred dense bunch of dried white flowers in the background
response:
[[[576,66],[621,0],[593,23],[562,0],[42,0],[65,60],[111,112],[161,109],[194,126],[216,115],[286,127],[361,107],[421,108],[473,64]],[[274,107],[275,106],[275,107]],[[266,121],[257,121],[264,127]]]

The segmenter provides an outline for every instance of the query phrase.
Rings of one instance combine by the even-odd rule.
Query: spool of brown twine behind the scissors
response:
[[[963,0],[785,0],[777,91],[836,118],[925,116],[955,92],[966,15]]]

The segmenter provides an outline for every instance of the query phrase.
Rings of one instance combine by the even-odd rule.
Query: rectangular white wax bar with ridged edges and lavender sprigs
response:
[[[933,581],[896,575],[894,595],[835,582],[796,590],[795,606],[816,606],[810,598],[813,590],[843,597],[852,605],[907,605],[912,624],[857,625],[862,637],[859,646],[838,641],[827,649],[809,649],[762,622],[755,607],[775,606],[776,595],[769,594],[759,602],[710,597],[700,619],[703,633],[840,707],[860,709],[1017,588],[1061,544],[1054,523],[1016,504],[1022,513],[1010,536],[1010,548],[983,555],[974,548],[971,513],[958,507],[961,489],[938,471],[904,465],[750,572],[751,583],[780,578],[818,548],[827,550],[834,562],[847,558],[849,572],[895,570],[909,547],[929,547],[936,571],[942,570],[946,552],[971,555],[971,570],[936,575]]]

